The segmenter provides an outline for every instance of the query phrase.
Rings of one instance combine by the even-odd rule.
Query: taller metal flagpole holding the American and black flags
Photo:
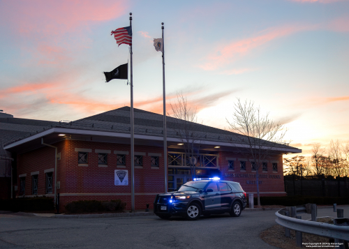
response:
[[[132,31],[132,13],[130,13],[130,27]],[[130,45],[131,54],[131,212],[135,211],[135,141],[133,128],[133,73],[132,73],[132,45]]]

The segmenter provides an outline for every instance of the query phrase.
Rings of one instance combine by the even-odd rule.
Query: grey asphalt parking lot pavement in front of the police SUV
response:
[[[347,206],[345,217],[348,212]],[[196,221],[0,214],[0,248],[274,248],[259,238],[276,224],[274,213],[243,211],[239,218],[223,214]],[[334,216],[332,209],[318,211],[318,216],[328,214]]]

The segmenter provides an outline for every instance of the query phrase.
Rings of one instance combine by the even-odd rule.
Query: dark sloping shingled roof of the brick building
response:
[[[156,114],[153,112],[147,112],[140,109],[133,109],[134,113],[134,134],[138,135],[140,139],[155,139],[160,141],[163,137],[163,115]],[[47,131],[54,128],[55,133],[79,133],[80,136],[113,136],[113,137],[124,137],[130,136],[130,122],[131,121],[131,108],[121,107],[116,110],[110,110],[108,112],[103,112],[101,114],[96,114],[94,116],[88,116],[84,119],[78,119],[76,121],[71,121],[69,123],[63,122],[50,122],[47,121],[46,126],[36,126],[40,130],[33,129],[34,123],[28,123],[27,126],[22,125],[22,128],[26,128],[29,133],[24,134],[24,137],[15,137],[11,142],[8,142],[6,146],[10,144],[20,144],[21,140],[23,142],[31,140],[30,137],[35,136],[40,137],[40,135],[49,134]],[[29,121],[28,121],[29,122]],[[45,122],[45,121],[40,121]],[[44,124],[44,123],[37,123]],[[0,123],[1,125],[1,123]],[[184,122],[180,119],[175,119],[173,117],[166,117],[167,125],[167,137],[168,141],[179,142],[179,132],[183,130]],[[30,129],[31,133],[30,133]],[[13,129],[12,129],[13,130]],[[200,123],[191,123],[191,130],[195,132],[198,139],[205,141],[209,144],[232,144],[235,141],[234,137],[237,136],[236,133],[231,133],[228,130],[221,130],[211,126],[204,126]],[[65,132],[66,131],[66,132]],[[34,133],[33,133],[34,132]],[[104,133],[103,133],[104,132]],[[18,135],[20,135],[18,133]],[[241,135],[240,135],[241,136]],[[137,137],[135,137],[137,138]],[[79,139],[79,138],[76,138]],[[91,137],[92,139],[92,137]],[[125,140],[124,140],[125,141]],[[107,142],[107,141],[105,141]],[[288,144],[278,144],[278,149],[287,152],[301,152],[301,150],[288,146]],[[212,147],[213,148],[213,147]]]

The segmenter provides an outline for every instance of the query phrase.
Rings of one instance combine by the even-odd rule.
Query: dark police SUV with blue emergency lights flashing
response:
[[[156,195],[154,201],[154,213],[163,219],[184,216],[197,220],[216,213],[238,217],[245,208],[246,193],[240,184],[218,177],[188,181],[177,191]]]

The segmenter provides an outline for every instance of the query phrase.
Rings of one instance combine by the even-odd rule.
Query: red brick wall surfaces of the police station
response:
[[[126,209],[131,209],[131,146],[128,144],[112,144],[102,142],[89,142],[77,140],[64,140],[57,144],[58,153],[61,153],[61,160],[57,160],[57,181],[60,182],[60,211],[64,211],[64,205],[82,199],[110,200],[121,199],[126,202]],[[88,153],[87,166],[79,166],[78,152],[75,148],[91,149]],[[98,167],[98,153],[96,149],[110,150],[107,154],[107,167]],[[126,155],[126,167],[117,167],[117,154],[114,151],[128,151]],[[135,145],[135,152],[145,153],[143,156],[142,168],[135,168],[135,209],[145,209],[146,204],[153,207],[156,193],[164,192],[164,167],[163,148],[157,146]],[[160,153],[158,169],[151,168],[150,156],[148,153]],[[236,158],[235,172],[228,169],[226,158]],[[246,192],[256,192],[254,174],[251,163],[246,161],[246,172],[241,172],[238,158],[243,158],[237,154],[221,151],[219,152],[218,165],[221,169],[222,179],[237,181],[241,183]],[[247,158],[248,159],[248,158]],[[278,172],[272,172],[272,163],[268,163],[268,172],[259,173],[266,178],[260,178],[260,192],[284,192],[282,156],[276,156],[273,160],[278,160]],[[25,195],[31,195],[31,172],[38,174],[38,195],[45,195],[45,169],[54,168],[54,148],[44,146],[34,151],[22,153],[17,156],[17,174],[27,174]],[[126,169],[129,175],[128,186],[114,186],[114,170]],[[54,181],[53,173],[53,181]],[[225,176],[225,174],[230,174]],[[237,177],[232,174],[244,174],[248,177]],[[241,176],[241,175],[239,175]],[[272,177],[271,177],[272,176]],[[18,176],[17,176],[18,177]],[[279,178],[277,178],[279,177]],[[20,181],[18,179],[18,190],[20,191]],[[19,193],[17,192],[17,195]],[[54,184],[53,184],[54,191]],[[263,195],[263,194],[262,194]],[[268,194],[285,195],[285,194]],[[53,195],[50,195],[53,196]]]

